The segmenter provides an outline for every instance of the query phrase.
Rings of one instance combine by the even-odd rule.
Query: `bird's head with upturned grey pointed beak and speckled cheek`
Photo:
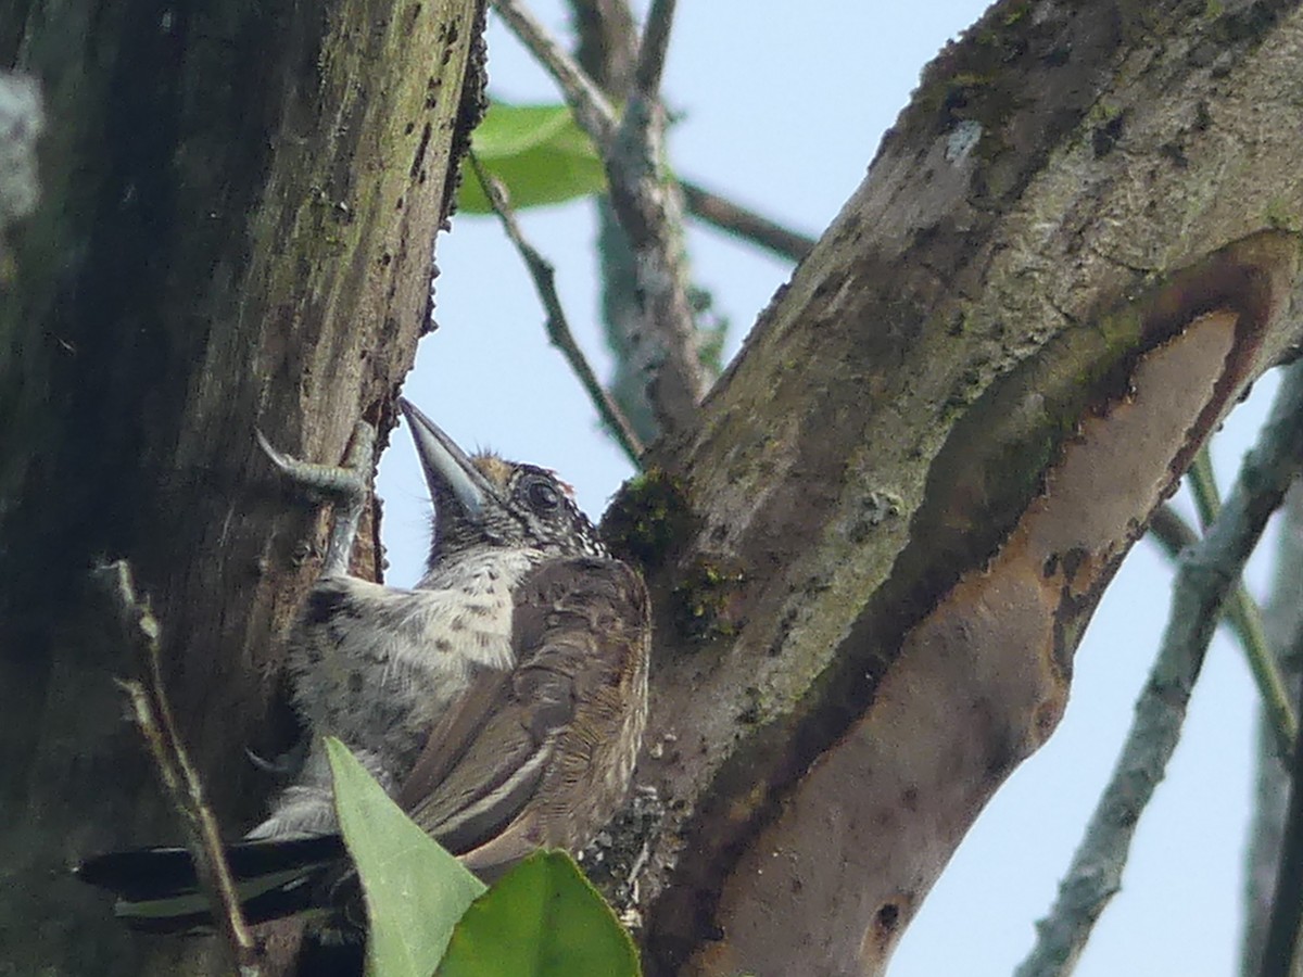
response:
[[[412,403],[399,404],[434,498],[431,568],[485,546],[606,556],[597,528],[552,472],[491,453],[466,455]]]

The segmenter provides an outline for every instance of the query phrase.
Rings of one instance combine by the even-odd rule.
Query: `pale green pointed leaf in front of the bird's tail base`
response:
[[[430,977],[483,883],[417,827],[348,746],[326,737],[335,810],[362,879],[371,977]]]

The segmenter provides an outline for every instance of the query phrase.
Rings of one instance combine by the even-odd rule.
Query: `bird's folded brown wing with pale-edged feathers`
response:
[[[603,772],[603,750],[632,711],[641,733],[649,641],[646,590],[629,567],[590,558],[539,565],[516,589],[516,667],[473,676],[431,729],[399,804],[476,870],[539,844],[567,845],[549,819],[601,800],[569,793]],[[628,770],[620,796],[627,782]]]

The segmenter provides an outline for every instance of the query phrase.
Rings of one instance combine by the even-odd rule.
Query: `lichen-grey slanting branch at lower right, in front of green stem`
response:
[[[1207,535],[1184,551],[1167,627],[1113,776],[1019,977],[1070,973],[1118,891],[1140,814],[1181,737],[1186,706],[1226,597],[1268,517],[1303,468],[1303,363],[1285,371],[1272,416]],[[1303,839],[1300,839],[1303,840]]]

